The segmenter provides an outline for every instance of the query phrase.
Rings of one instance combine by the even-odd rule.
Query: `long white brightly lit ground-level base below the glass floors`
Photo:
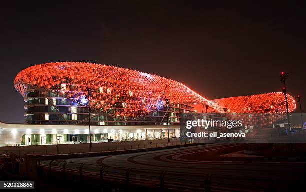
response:
[[[91,126],[92,142],[163,139],[180,136],[180,126]],[[7,124],[0,122],[0,146],[89,142],[85,125]]]

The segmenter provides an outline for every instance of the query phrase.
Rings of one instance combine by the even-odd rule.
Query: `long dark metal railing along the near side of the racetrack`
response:
[[[270,191],[276,180],[221,174],[191,174],[165,170],[99,166],[63,160],[37,161],[41,177],[65,178],[105,187],[145,186],[160,190]],[[116,184],[113,184],[116,183]],[[108,184],[109,186],[109,184]]]

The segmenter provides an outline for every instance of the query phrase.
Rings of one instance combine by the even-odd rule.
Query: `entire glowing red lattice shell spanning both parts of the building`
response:
[[[87,105],[86,88],[94,90],[90,106],[122,119],[134,119],[163,108],[165,98],[174,104],[208,104],[217,112],[285,112],[282,93],[267,93],[207,100],[182,83],[135,70],[85,62],[34,65],[17,74],[15,88],[26,97],[28,87],[54,92]],[[296,107],[288,95],[289,111]],[[197,110],[197,112],[200,112]],[[205,110],[204,110],[205,112]]]

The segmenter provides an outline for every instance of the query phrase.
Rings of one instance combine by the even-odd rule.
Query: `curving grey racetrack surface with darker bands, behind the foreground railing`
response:
[[[278,162],[276,158],[271,158],[269,161],[261,161],[260,158],[256,158],[252,161],[245,158],[245,160],[236,161],[231,160],[230,157],[226,160],[218,158],[222,154],[239,151],[243,149],[244,145],[242,143],[207,144],[141,153],[75,158],[64,161],[69,162],[67,167],[75,169],[79,166],[76,163],[90,164],[84,166],[84,170],[89,172],[99,171],[101,166],[120,167],[118,169],[105,169],[106,172],[117,175],[125,175],[127,168],[132,168],[131,174],[143,178],[158,177],[160,172],[167,171],[173,173],[172,175],[166,174],[169,181],[182,183],[196,184],[203,181],[203,175],[212,174],[215,182],[222,183],[223,186],[235,184],[236,188],[258,185],[267,188],[270,180],[290,179],[294,181],[303,177],[304,172],[306,172],[306,163],[294,162],[294,160],[293,162]],[[202,155],[201,159],[203,160],[183,158],[186,155]],[[44,163],[48,163],[48,161]],[[62,164],[63,162],[53,163]],[[140,172],[137,173],[137,171]],[[280,181],[280,184],[285,183]]]

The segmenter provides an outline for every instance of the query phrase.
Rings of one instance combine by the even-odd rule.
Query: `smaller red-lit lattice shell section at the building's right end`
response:
[[[289,112],[292,112],[296,108],[295,100],[288,94],[287,99]],[[286,116],[286,100],[282,92],[221,98],[212,102],[223,113],[227,108],[227,118],[243,119],[244,125],[267,126]]]

